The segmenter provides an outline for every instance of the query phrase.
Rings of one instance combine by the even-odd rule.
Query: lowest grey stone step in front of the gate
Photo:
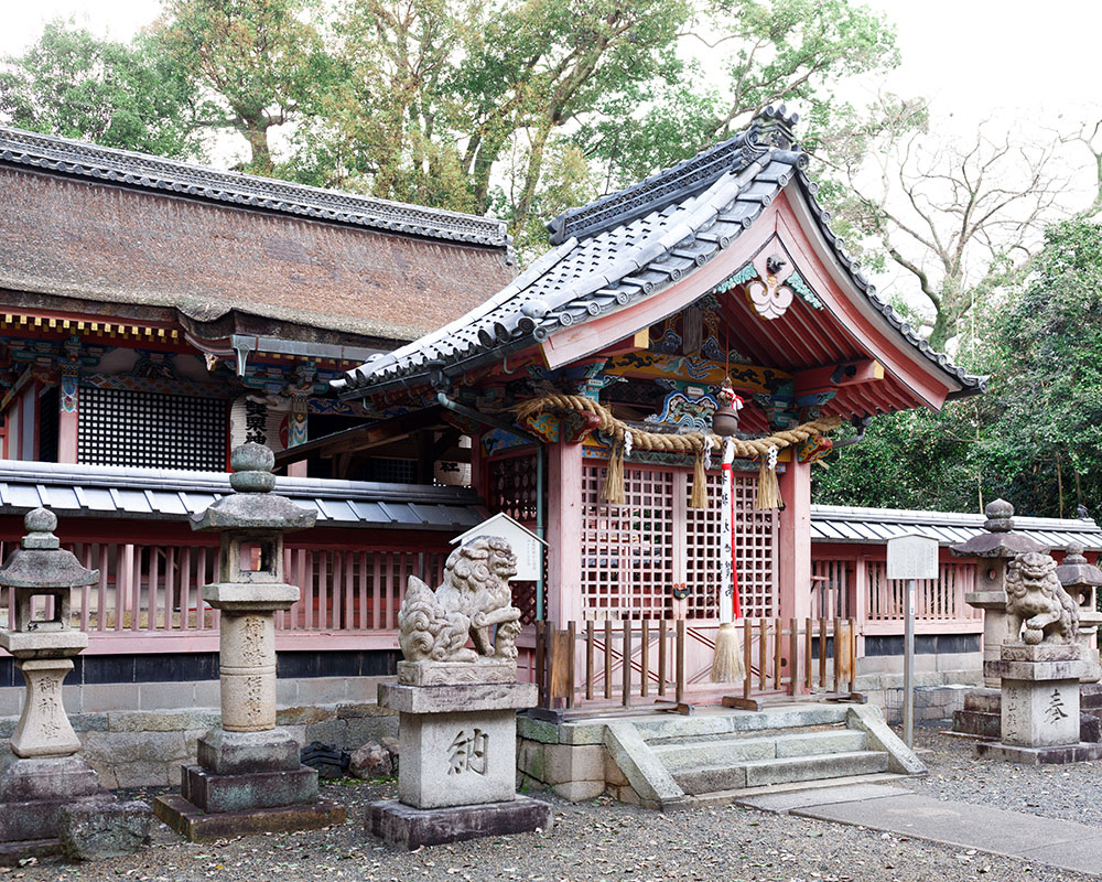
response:
[[[793,781],[874,775],[888,770],[888,755],[879,751],[852,751],[777,760],[755,760],[737,765],[702,766],[673,773],[687,794],[737,790]]]

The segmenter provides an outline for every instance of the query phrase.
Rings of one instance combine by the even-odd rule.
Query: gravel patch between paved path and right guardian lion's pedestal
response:
[[[1102,761],[1025,766],[972,756],[971,739],[915,730],[915,746],[930,774],[906,786],[938,799],[976,803],[1011,811],[1102,827]],[[927,752],[929,751],[929,752]]]

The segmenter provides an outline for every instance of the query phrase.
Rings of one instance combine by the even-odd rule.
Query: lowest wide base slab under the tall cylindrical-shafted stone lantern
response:
[[[207,814],[182,796],[159,796],[153,800],[153,814],[192,842],[251,833],[316,830],[345,822],[344,806],[323,799],[307,805]]]

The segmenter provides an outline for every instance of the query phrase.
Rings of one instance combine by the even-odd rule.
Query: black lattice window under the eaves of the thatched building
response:
[[[226,402],[123,389],[80,389],[77,461],[224,472]]]

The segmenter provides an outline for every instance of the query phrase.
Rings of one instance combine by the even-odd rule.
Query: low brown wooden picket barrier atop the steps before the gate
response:
[[[590,706],[687,710],[694,698],[720,698],[727,707],[799,695],[846,696],[855,691],[854,619],[743,619],[738,622],[745,676],[739,684],[709,681],[706,668],[690,674],[687,652],[704,647],[710,667],[717,623],[681,620],[553,622],[536,624],[534,678],[542,708]]]

